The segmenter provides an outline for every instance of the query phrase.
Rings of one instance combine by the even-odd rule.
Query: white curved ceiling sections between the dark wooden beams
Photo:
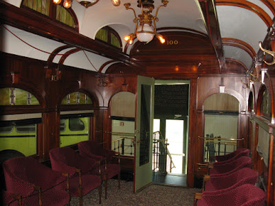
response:
[[[21,0],[5,0],[8,3],[20,7]],[[234,0],[233,0],[234,1]],[[256,5],[259,5],[270,18],[273,19],[272,11],[264,5],[261,0],[249,0]],[[137,8],[137,0],[121,0],[118,7],[112,5],[111,0],[100,0],[95,5],[84,8],[76,0],[73,1],[72,9],[78,17],[78,23],[80,26],[80,34],[93,38],[96,32],[105,25],[110,25],[115,29],[122,38],[123,46],[125,42],[123,37],[134,31],[135,23],[133,23],[134,15],[132,10],[126,10],[124,3],[131,3],[131,7],[135,9],[137,14],[140,14],[140,8]],[[161,0],[155,0],[155,10],[152,14],[155,14],[157,6],[161,4]],[[166,8],[162,7],[159,9],[157,27],[185,27],[199,32],[206,33],[206,27],[203,24],[200,10],[198,8],[197,0],[170,0]],[[221,38],[236,38],[252,46],[254,51],[257,53],[259,50],[259,41],[263,41],[267,34],[267,25],[264,21],[254,12],[232,5],[217,5],[217,16],[220,25]],[[23,37],[25,41],[30,44],[37,45],[37,47],[43,47],[48,52],[52,52],[56,47],[62,45],[50,40],[41,41],[42,37],[23,32],[13,28],[14,32],[20,37]],[[28,45],[19,43],[19,40],[15,40],[12,34],[5,32],[7,43],[5,43],[6,52],[8,53],[20,53],[22,56],[29,56],[32,58],[38,58],[41,60],[47,59],[47,54],[37,54],[32,48],[28,48]],[[12,51],[13,43],[22,47],[21,52]],[[26,49],[28,48],[28,52]],[[129,49],[128,49],[129,51]],[[5,51],[4,51],[5,52]],[[252,66],[253,59],[243,49],[238,47],[224,46],[225,58],[236,59],[248,67]],[[76,58],[80,58],[83,54],[80,52],[69,56],[66,59],[65,65],[76,65]],[[99,69],[100,64],[108,61],[108,58],[99,58],[94,54],[90,54],[91,61]],[[80,68],[95,71],[91,67],[89,61],[83,59],[77,65]]]

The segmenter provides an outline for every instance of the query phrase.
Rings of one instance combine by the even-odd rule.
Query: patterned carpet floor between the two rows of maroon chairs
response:
[[[104,199],[104,187],[102,186],[102,206],[164,206],[181,205],[192,206],[194,193],[199,192],[197,188],[170,187],[164,185],[150,185],[141,192],[133,193],[132,181],[121,181],[121,188],[118,190],[118,181],[108,181],[108,197]],[[79,205],[79,199],[72,197],[71,205]],[[83,205],[99,205],[98,189],[91,191],[83,197]]]

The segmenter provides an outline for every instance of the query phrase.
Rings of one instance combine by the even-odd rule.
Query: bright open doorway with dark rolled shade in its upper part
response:
[[[188,80],[155,80],[153,182],[186,187]]]

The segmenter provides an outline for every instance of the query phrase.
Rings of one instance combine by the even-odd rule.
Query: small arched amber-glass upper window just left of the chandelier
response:
[[[122,50],[122,43],[118,32],[115,32],[115,30],[109,26],[103,27],[96,33],[96,40]]]

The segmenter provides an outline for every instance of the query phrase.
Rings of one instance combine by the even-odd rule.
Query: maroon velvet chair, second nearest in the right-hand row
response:
[[[226,176],[204,176],[203,191],[210,192],[228,188],[232,190],[232,188],[238,187],[239,185],[255,185],[258,181],[258,175],[258,172],[250,168],[242,168]]]

